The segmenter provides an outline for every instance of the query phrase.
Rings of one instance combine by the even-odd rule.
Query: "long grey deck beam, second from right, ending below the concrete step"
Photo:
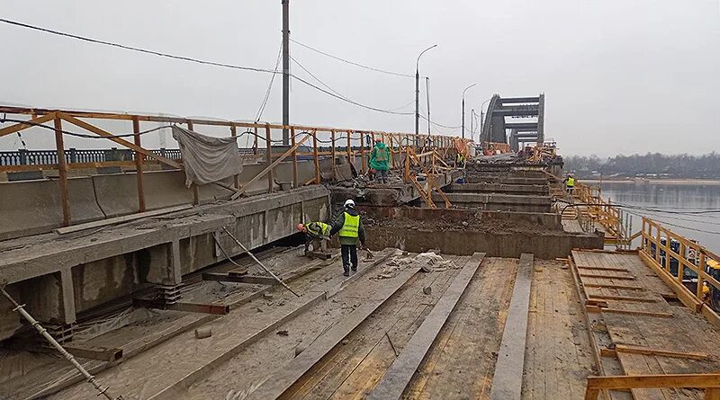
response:
[[[484,257],[485,253],[474,253],[470,260],[465,263],[463,270],[457,274],[450,287],[437,300],[437,304],[412,335],[400,356],[392,362],[383,378],[374,387],[373,392],[367,396],[368,400],[401,398],[402,392],[410,383],[410,379],[419,368],[420,362],[425,359],[430,346],[437,338],[437,333],[440,332],[440,329],[447,321],[447,317],[455,309],[457,301],[463,296]]]

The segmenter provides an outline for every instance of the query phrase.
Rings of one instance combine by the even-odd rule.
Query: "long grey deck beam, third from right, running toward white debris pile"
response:
[[[246,397],[246,400],[268,400],[276,399],[283,395],[285,390],[293,385],[302,377],[315,363],[320,361],[330,350],[332,350],[347,334],[353,332],[357,325],[362,324],[365,318],[374,313],[374,311],[383,305],[383,303],[398,291],[413,275],[419,271],[419,268],[409,268],[402,271],[400,275],[393,278],[387,286],[378,291],[380,298],[369,298],[355,311],[343,318],[338,324],[333,325],[328,332],[323,333],[313,342],[310,347],[302,351],[292,361],[285,364],[283,369],[279,369],[275,374],[271,375],[266,381],[257,387],[255,391]]]

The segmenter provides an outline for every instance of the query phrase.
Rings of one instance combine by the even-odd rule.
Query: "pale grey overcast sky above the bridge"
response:
[[[365,65],[414,74],[419,51],[437,44],[420,62],[421,75],[430,76],[437,122],[460,125],[461,93],[476,83],[466,94],[466,125],[470,109],[479,110],[492,93],[545,92],[546,137],[555,138],[565,155],[720,151],[718,0],[292,0],[291,7],[294,40]],[[99,40],[269,69],[275,67],[282,26],[280,0],[5,1],[0,15]],[[3,104],[254,120],[270,77],[5,24],[0,38]],[[353,67],[297,45],[291,44],[291,51],[356,102],[397,109],[414,98],[412,78]],[[294,65],[292,72],[312,80]],[[282,120],[281,81],[275,80],[263,120]],[[414,130],[413,116],[367,111],[297,82],[291,96],[293,123]],[[421,99],[424,108],[424,90]],[[412,112],[413,106],[401,111]],[[427,122],[421,120],[421,127]],[[130,126],[118,129],[127,132]],[[47,132],[24,137],[31,148],[52,147]],[[20,144],[15,136],[0,138],[0,148]]]

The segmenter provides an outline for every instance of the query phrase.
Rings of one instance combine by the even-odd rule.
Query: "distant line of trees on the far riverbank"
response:
[[[590,177],[603,176],[658,176],[676,178],[720,179],[720,154],[708,153],[704,156],[646,155],[614,156],[565,156],[565,171]]]

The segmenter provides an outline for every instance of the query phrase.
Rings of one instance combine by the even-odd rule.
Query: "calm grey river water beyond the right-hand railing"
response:
[[[588,182],[598,186],[599,182]],[[663,209],[671,213],[626,209],[660,222],[673,232],[720,253],[720,182],[602,182],[602,197],[612,202],[642,208]],[[682,214],[680,214],[682,213]],[[633,232],[642,227],[642,218],[633,216]]]

